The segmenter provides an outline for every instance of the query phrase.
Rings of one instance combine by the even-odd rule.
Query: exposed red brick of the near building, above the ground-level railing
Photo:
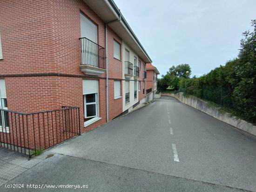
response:
[[[83,75],[79,68],[80,12],[98,26],[98,44],[105,47],[105,24],[83,0],[1,0],[0,33],[3,60],[0,75],[65,73]],[[114,42],[122,40],[108,28],[109,78],[122,79],[121,60],[114,58]],[[122,46],[122,45],[121,45]],[[122,52],[121,52],[122,54]],[[142,63],[141,60],[141,67]],[[105,77],[102,74],[100,77]],[[81,108],[82,132],[106,122],[106,80],[99,80],[101,120],[84,128],[82,78],[63,76],[8,77],[8,109],[37,112],[61,106]],[[140,72],[142,81],[142,69]],[[114,80],[109,80],[109,120],[122,113],[122,99],[114,99]],[[122,86],[122,83],[121,83]],[[139,99],[142,99],[143,84]],[[121,88],[122,90],[122,88]],[[122,93],[122,91],[121,91]]]

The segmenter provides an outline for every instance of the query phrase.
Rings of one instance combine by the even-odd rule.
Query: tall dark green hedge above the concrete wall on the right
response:
[[[176,76],[175,89],[212,101],[233,115],[256,123],[256,20],[252,20],[252,26],[253,32],[243,33],[241,49],[235,60],[199,78]],[[162,90],[172,83],[165,76],[159,81]],[[163,85],[164,80],[166,85]]]

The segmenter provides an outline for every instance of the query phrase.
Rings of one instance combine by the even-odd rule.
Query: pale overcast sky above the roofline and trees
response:
[[[256,0],[115,0],[159,72],[187,63],[200,76],[237,56]]]

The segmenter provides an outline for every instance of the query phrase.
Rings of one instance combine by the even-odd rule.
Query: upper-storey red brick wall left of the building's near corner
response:
[[[1,74],[54,70],[49,0],[1,0]]]

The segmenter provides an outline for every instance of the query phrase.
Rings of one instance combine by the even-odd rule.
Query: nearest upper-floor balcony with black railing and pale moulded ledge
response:
[[[86,75],[99,76],[105,72],[105,48],[83,37],[81,41],[81,71]]]

